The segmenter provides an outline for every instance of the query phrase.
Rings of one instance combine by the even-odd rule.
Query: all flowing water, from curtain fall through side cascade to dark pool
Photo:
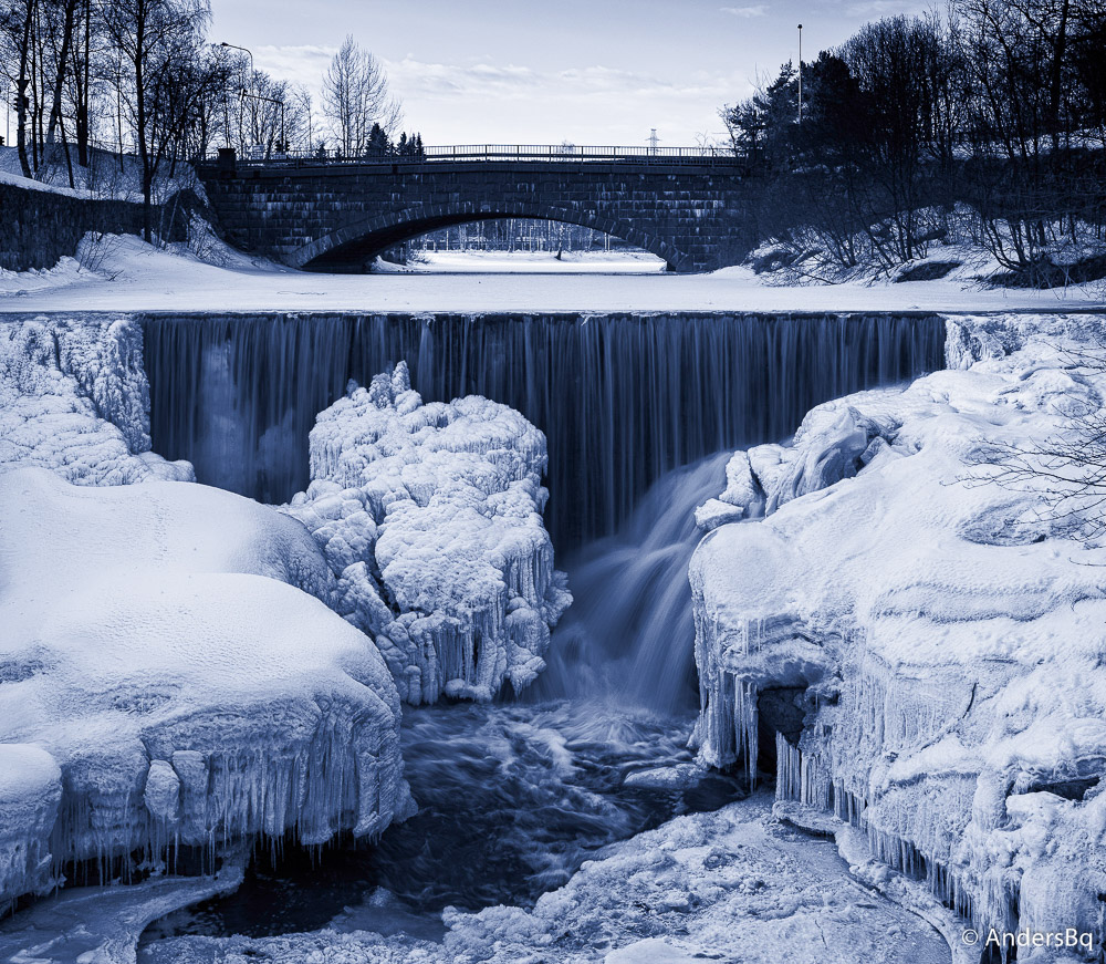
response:
[[[740,778],[697,771],[685,746],[693,509],[724,486],[733,448],[786,436],[818,402],[940,367],[945,338],[933,317],[144,324],[155,450],[267,501],[306,485],[315,413],[389,362],[406,360],[427,400],[477,393],[518,408],[549,439],[546,522],[575,594],[522,701],[405,711],[415,818],[321,864],[259,858],[236,894],[147,942],[324,925],[434,939],[448,904],[532,903],[607,843],[739,798]]]

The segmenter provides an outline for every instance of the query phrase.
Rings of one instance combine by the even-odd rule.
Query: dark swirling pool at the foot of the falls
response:
[[[681,789],[627,775],[690,763],[692,718],[601,701],[408,709],[404,759],[419,812],[377,842],[259,854],[229,898],[159,922],[169,934],[280,934],[337,926],[434,936],[440,912],[533,903],[606,844],[739,799],[733,778]]]

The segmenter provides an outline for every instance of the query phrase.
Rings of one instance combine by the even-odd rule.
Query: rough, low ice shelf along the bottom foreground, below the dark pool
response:
[[[369,902],[387,906],[387,893]],[[442,943],[337,927],[176,937],[150,964],[947,964],[928,924],[851,880],[832,844],[782,828],[760,797],[678,817],[585,863],[530,909],[447,909]]]

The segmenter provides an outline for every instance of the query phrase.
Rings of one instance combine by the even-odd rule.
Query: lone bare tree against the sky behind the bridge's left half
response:
[[[390,135],[399,124],[399,102],[388,91],[380,62],[346,37],[323,75],[323,111],[345,155],[363,154],[373,126]]]

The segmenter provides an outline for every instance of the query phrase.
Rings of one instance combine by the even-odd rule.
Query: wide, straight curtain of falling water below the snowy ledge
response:
[[[143,328],[154,450],[200,481],[288,500],[307,484],[315,414],[405,360],[427,401],[486,395],[545,433],[561,552],[615,533],[678,466],[941,367],[945,341],[920,314],[158,314]]]

